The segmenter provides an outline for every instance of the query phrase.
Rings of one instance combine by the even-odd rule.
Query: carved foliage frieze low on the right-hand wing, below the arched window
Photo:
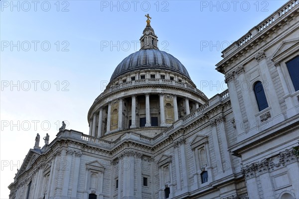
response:
[[[276,156],[272,156],[270,158],[265,158],[257,163],[251,163],[242,167],[241,163],[241,172],[245,176],[245,179],[250,179],[258,176],[259,174],[269,172],[274,170],[275,168],[284,167],[286,164],[297,161],[297,157],[295,155],[295,150],[286,149],[284,152],[280,152]]]

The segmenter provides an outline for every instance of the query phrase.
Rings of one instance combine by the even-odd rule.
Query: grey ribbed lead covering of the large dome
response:
[[[172,55],[158,49],[146,49],[132,53],[115,69],[110,81],[127,72],[142,69],[168,69],[181,73],[190,79],[186,68]]]

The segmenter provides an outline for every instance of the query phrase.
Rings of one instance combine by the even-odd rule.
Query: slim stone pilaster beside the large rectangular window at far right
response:
[[[281,68],[281,64],[279,62],[276,62],[276,63],[274,63],[274,65],[277,68],[278,76],[279,76],[282,86],[283,86],[283,90],[284,90],[285,97],[286,97],[285,101],[286,101],[286,106],[287,106],[287,115],[290,118],[297,114],[296,109],[294,108],[295,105],[292,100],[292,97],[290,96],[290,91],[289,91],[288,85],[285,81],[284,73]]]

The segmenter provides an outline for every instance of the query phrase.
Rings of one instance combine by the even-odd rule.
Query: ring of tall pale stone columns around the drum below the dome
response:
[[[151,122],[150,122],[150,103],[149,103],[149,93],[145,94],[145,98],[146,98],[146,124],[145,126],[151,126]],[[132,95],[131,96],[131,100],[132,100],[132,112],[131,112],[131,125],[130,128],[136,128],[139,127],[137,125],[137,121],[136,121],[136,95]],[[190,113],[190,107],[189,107],[189,98],[185,98],[185,110],[186,110],[186,114]],[[173,117],[174,117],[174,121],[178,120],[178,107],[177,107],[177,97],[176,95],[172,95],[172,102],[173,102]],[[195,102],[195,107],[196,109],[199,107],[199,103]],[[164,94],[159,94],[159,108],[160,108],[160,126],[167,126],[166,123],[166,119],[165,119],[165,110],[164,110]],[[119,108],[118,108],[118,130],[124,129],[123,126],[123,98],[119,99]],[[111,121],[111,101],[108,102],[108,114],[107,114],[107,128],[106,128],[106,132],[103,132],[103,106],[100,107],[98,112],[95,112],[93,117],[90,119],[90,126],[89,126],[89,135],[91,136],[96,136],[96,120],[98,117],[98,131],[97,131],[97,137],[101,137],[104,134],[109,133],[110,130],[110,121]]]

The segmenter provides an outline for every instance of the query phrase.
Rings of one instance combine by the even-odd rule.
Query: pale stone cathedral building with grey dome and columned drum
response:
[[[92,104],[89,133],[30,149],[9,198],[299,198],[298,7],[288,1],[223,51],[228,90],[211,99],[158,50],[148,18],[141,52]]]

